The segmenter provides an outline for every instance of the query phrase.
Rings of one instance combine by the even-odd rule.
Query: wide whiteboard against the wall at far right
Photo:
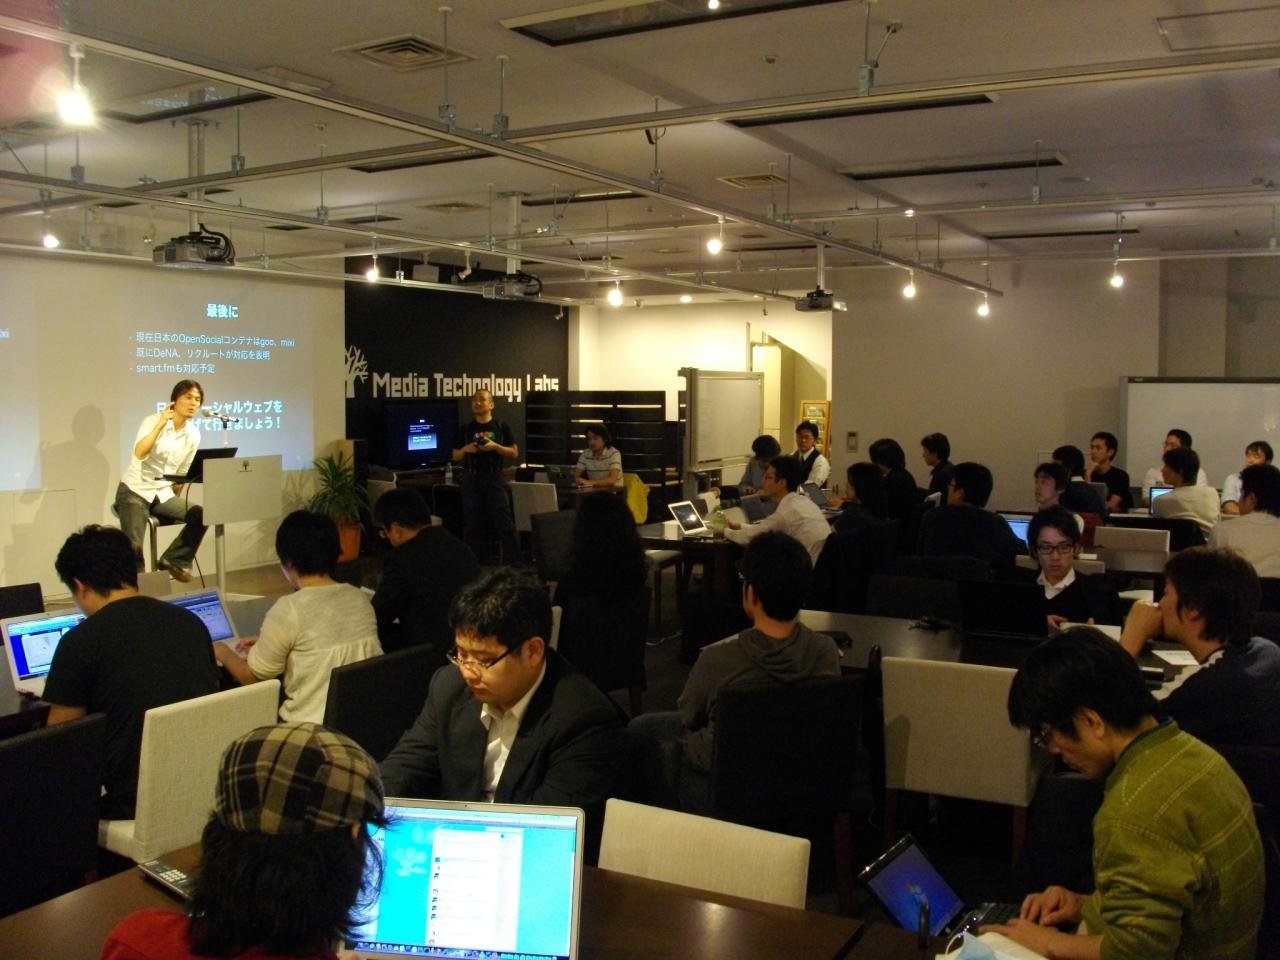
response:
[[[1160,465],[1165,435],[1180,428],[1212,486],[1244,466],[1244,448],[1266,440],[1280,449],[1280,380],[1202,380],[1126,376],[1120,380],[1125,413],[1120,466],[1140,484]]]

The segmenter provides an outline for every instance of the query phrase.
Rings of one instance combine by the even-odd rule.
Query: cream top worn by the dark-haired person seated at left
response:
[[[248,668],[259,680],[282,678],[282,721],[323,723],[333,668],[381,652],[367,594],[351,584],[305,586],[266,612]]]

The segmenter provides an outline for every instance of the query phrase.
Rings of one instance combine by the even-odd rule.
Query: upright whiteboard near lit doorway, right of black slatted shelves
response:
[[[764,374],[685,367],[685,468],[745,463],[764,424]]]

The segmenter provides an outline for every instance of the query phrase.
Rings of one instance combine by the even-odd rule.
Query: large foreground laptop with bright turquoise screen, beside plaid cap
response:
[[[369,957],[577,960],[585,815],[567,806],[388,797]],[[370,878],[372,881],[372,878]]]

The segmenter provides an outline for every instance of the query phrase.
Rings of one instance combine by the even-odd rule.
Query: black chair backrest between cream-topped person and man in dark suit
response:
[[[444,658],[434,648],[420,645],[335,667],[324,724],[381,760],[422,712],[431,675],[442,666]]]

